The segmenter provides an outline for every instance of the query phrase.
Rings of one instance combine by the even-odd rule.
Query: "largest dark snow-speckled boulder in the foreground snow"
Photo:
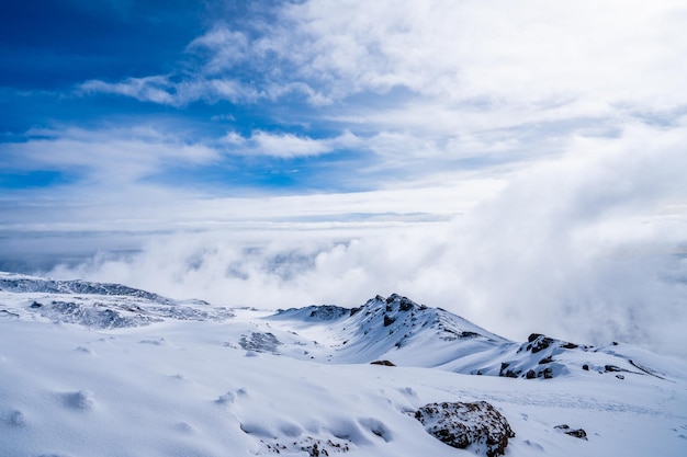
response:
[[[459,449],[487,457],[503,455],[515,436],[508,421],[486,401],[430,403],[415,413],[427,433]]]

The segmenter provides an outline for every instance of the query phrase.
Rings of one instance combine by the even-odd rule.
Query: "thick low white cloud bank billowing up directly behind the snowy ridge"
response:
[[[50,274],[267,308],[396,292],[513,339],[539,331],[687,356],[686,139],[685,127],[638,124],[572,140],[448,222],[171,235]]]

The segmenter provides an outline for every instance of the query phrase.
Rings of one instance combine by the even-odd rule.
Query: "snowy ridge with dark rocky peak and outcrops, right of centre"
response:
[[[305,336],[300,346],[314,345],[307,340],[318,342],[314,351],[304,351],[301,356],[297,351],[282,349],[296,358],[317,353],[319,358],[334,363],[387,359],[402,366],[526,379],[598,374],[662,377],[661,370],[651,368],[657,356],[632,346],[610,343],[594,347],[542,334],[516,343],[440,308],[418,305],[396,294],[376,296],[350,310],[311,306],[280,311],[266,320],[282,331],[297,329]]]

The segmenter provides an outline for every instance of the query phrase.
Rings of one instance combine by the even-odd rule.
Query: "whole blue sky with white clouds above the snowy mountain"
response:
[[[687,357],[684,1],[5,3],[0,270]]]

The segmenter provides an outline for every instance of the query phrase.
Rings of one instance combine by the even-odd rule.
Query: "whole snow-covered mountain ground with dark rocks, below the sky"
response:
[[[523,340],[398,295],[264,311],[0,273],[0,456],[496,455],[446,422],[506,456],[687,455],[683,361]]]

